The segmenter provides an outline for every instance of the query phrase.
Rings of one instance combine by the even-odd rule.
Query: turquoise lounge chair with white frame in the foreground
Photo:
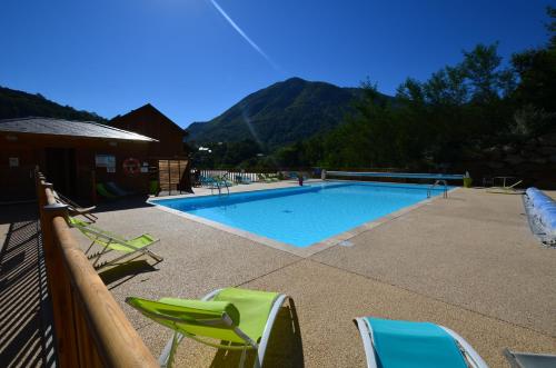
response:
[[[477,351],[449,328],[373,317],[354,321],[369,368],[488,368]]]

